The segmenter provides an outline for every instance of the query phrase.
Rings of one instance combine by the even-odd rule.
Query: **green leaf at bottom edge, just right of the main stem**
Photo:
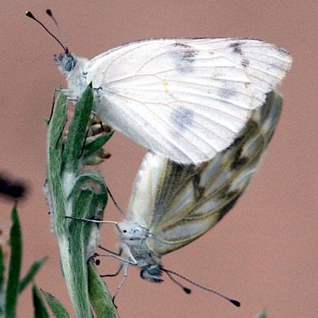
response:
[[[88,262],[88,293],[90,304],[97,318],[118,318],[116,308],[112,302],[112,295],[106,288],[100,274],[95,269],[93,261]]]

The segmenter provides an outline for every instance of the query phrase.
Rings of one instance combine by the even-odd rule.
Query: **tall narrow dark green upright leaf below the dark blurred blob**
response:
[[[16,204],[11,213],[12,226],[10,231],[11,257],[8,271],[8,283],[6,287],[6,318],[16,317],[16,305],[18,301],[19,277],[22,262],[22,236],[18,220]]]

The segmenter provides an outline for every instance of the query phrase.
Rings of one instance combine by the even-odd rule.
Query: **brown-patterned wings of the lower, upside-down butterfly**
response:
[[[270,93],[237,139],[215,158],[178,165],[149,152],[136,178],[130,215],[153,234],[158,254],[189,244],[223,218],[257,170],[281,113],[281,96]]]

